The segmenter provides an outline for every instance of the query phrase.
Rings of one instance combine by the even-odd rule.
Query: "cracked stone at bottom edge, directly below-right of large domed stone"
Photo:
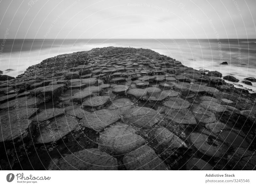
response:
[[[165,170],[167,165],[148,145],[144,145],[123,158],[127,170]]]

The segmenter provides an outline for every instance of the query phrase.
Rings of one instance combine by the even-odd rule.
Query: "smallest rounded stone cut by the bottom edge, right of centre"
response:
[[[187,170],[214,170],[214,168],[203,159],[192,158],[186,164]]]

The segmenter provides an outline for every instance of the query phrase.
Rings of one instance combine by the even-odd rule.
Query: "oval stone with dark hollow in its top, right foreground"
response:
[[[228,150],[228,147],[222,142],[205,134],[192,133],[190,135],[190,141],[198,151],[207,156],[222,157]]]

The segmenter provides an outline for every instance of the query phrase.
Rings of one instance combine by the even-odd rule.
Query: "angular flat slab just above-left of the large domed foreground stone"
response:
[[[80,115],[80,114],[79,114]],[[80,120],[83,127],[92,128],[93,130],[100,132],[109,125],[120,120],[121,116],[116,110],[102,109],[95,112],[83,113],[83,118]]]

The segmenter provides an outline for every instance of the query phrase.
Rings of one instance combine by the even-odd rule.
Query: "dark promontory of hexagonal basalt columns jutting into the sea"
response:
[[[256,95],[221,77],[148,49],[45,59],[1,81],[0,167],[255,170]]]

